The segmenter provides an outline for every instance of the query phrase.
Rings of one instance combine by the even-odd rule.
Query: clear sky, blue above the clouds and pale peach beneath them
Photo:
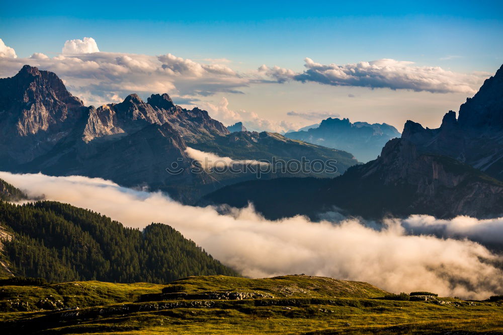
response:
[[[240,72],[262,64],[301,72],[304,58],[309,57],[320,64],[391,58],[456,73],[494,73],[503,63],[502,13],[503,2],[494,1],[5,2],[0,38],[14,48],[18,58],[34,52],[54,57],[65,41],[92,37],[102,52],[171,53],[202,63],[225,58],[230,60],[227,66]],[[400,128],[406,119],[434,126],[446,109],[457,110],[467,96],[428,93],[423,108],[425,93],[406,90],[292,82],[249,85],[239,91],[245,94],[216,92],[193,102],[219,106],[225,99],[229,109],[245,109],[277,122],[288,110],[299,109]],[[292,98],[299,94],[307,102]],[[363,102],[353,99],[350,103],[349,95]],[[295,103],[289,105],[292,99]],[[416,106],[404,108],[411,103]],[[272,105],[274,109],[268,107]]]

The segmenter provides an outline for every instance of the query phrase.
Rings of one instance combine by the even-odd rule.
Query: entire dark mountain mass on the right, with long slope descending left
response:
[[[327,211],[381,219],[429,214],[439,218],[503,214],[503,66],[479,92],[448,112],[440,128],[407,121],[401,138],[379,157],[331,180],[282,178],[231,185],[202,204],[247,206],[269,218],[313,219]],[[349,122],[349,121],[348,121]]]

